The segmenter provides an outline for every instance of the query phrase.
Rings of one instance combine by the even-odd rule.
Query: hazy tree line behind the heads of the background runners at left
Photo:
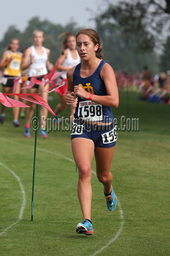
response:
[[[16,37],[19,39],[19,50],[31,46],[33,44],[32,33],[36,29],[44,31],[44,47],[47,47],[51,50],[50,62],[55,64],[57,58],[62,52],[62,39],[58,39],[58,35],[66,31],[76,33],[78,27],[74,21],[70,21],[66,26],[62,26],[60,24],[53,24],[48,20],[40,21],[39,17],[33,17],[28,22],[28,26],[23,32],[19,31],[15,26],[11,26],[8,28],[8,31],[5,33],[4,38],[0,42],[0,54],[2,54],[4,48],[8,45],[9,40],[12,37]]]

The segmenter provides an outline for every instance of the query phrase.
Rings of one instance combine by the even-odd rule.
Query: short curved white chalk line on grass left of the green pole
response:
[[[0,165],[3,166],[3,167],[5,167],[8,171],[10,171],[11,174],[17,179],[17,181],[18,181],[18,183],[19,183],[19,186],[21,187],[21,192],[22,192],[22,197],[23,197],[22,206],[21,206],[21,210],[20,210],[20,212],[19,212],[18,219],[16,220],[16,222],[12,223],[10,226],[8,226],[6,229],[4,229],[4,231],[2,231],[2,232],[0,233],[0,236],[1,236],[1,235],[3,235],[8,229],[12,228],[13,225],[17,224],[17,223],[22,219],[23,212],[24,212],[24,208],[25,208],[25,205],[26,205],[26,194],[25,194],[23,185],[22,185],[21,180],[20,180],[20,178],[18,177],[18,175],[16,175],[14,171],[12,171],[10,168],[8,168],[6,165],[2,164],[1,162],[0,162]]]

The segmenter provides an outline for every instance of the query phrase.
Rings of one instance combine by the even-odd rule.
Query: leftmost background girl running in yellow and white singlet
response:
[[[14,79],[11,79],[11,77],[19,77],[21,76],[21,62],[22,62],[22,53],[18,52],[19,48],[19,40],[17,38],[12,38],[10,40],[9,45],[7,46],[7,50],[2,55],[2,59],[0,60],[0,69],[4,69],[4,78],[6,78],[2,82],[2,92],[3,93],[9,93],[10,90],[13,87]],[[21,82],[22,80],[18,81],[15,93],[20,93],[21,91]],[[13,97],[15,100],[19,100],[17,96]],[[19,107],[15,107],[15,110],[13,110],[13,126],[17,127],[20,126],[18,122],[18,116],[19,116]],[[1,114],[0,114],[0,123],[4,123],[5,118],[5,106],[2,105],[1,107]]]

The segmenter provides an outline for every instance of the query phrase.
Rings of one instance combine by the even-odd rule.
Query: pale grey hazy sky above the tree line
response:
[[[39,16],[53,23],[66,25],[70,18],[74,18],[82,27],[95,27],[95,22],[90,21],[91,13],[86,8],[97,12],[101,0],[0,0],[0,40],[7,28],[15,25],[19,30],[24,30],[28,20]]]

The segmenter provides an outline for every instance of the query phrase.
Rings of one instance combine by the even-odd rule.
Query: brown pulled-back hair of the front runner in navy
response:
[[[99,47],[96,51],[96,57],[98,59],[102,59],[102,42],[100,44],[100,37],[97,34],[97,32],[91,28],[81,28],[76,34],[75,34],[75,38],[77,41],[77,38],[80,34],[86,34],[87,36],[89,36],[92,39],[92,42],[94,43],[94,45],[98,44]]]

